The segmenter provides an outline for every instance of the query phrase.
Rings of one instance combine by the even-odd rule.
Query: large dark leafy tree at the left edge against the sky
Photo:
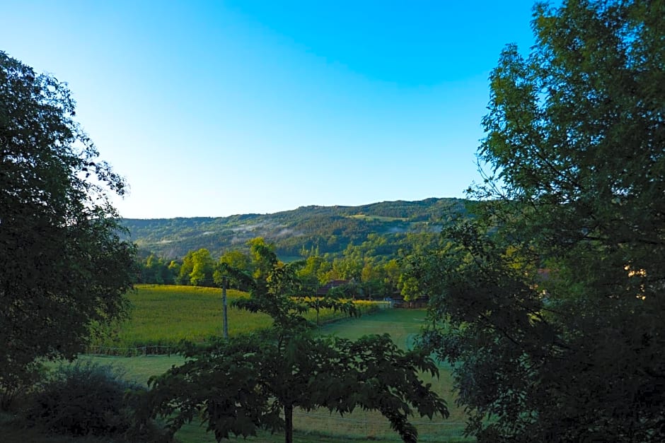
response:
[[[74,120],[64,83],[0,52],[0,394],[38,358],[74,358],[122,318],[134,246],[108,192],[125,182]]]

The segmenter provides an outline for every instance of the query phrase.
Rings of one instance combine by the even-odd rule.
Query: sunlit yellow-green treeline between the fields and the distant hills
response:
[[[382,299],[401,295],[405,300],[420,296],[417,280],[407,275],[410,256],[432,247],[439,239],[434,232],[404,235],[403,249],[395,250],[386,237],[369,234],[360,244],[348,244],[341,256],[321,254],[318,247],[301,248],[297,276],[303,287],[315,294],[326,283],[344,282],[335,290],[356,298]],[[260,256],[255,250],[276,247],[263,237],[255,237],[243,248],[229,249],[215,259],[213,254],[200,248],[187,252],[182,259],[168,260],[156,254],[144,254],[138,259],[137,283],[176,284],[219,287],[227,278],[227,287],[248,290],[243,278],[229,275],[236,270],[240,275],[255,276],[260,272]]]

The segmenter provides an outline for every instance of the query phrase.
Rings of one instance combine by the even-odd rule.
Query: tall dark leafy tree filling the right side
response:
[[[534,11],[490,77],[487,200],[415,264],[423,341],[480,441],[663,441],[665,3]]]

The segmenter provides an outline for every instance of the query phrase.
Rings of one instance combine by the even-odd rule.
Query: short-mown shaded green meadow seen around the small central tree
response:
[[[359,319],[345,319],[327,324],[321,328],[322,333],[334,334],[345,338],[358,338],[370,333],[388,332],[395,343],[403,348],[409,346],[415,335],[420,331],[424,320],[424,310],[417,309],[383,309],[380,312],[367,314]],[[86,359],[96,362],[112,364],[122,367],[126,377],[135,382],[145,383],[154,374],[166,371],[171,365],[178,365],[183,361],[179,356],[147,355],[136,358],[86,356]],[[451,394],[451,377],[448,367],[441,367],[440,379],[428,378],[434,389],[439,392],[449,404],[451,416],[447,420],[435,418],[414,418],[420,432],[422,442],[457,442],[467,441],[461,437],[464,427],[465,415],[463,410],[456,408],[454,397]],[[379,413],[366,413],[362,410],[354,411],[341,418],[339,415],[330,415],[327,410],[318,410],[306,413],[294,413],[294,427],[296,442],[340,442],[353,440],[356,442],[370,442],[376,440],[398,442],[400,439],[390,429],[388,421]],[[214,442],[212,435],[204,432],[199,425],[188,425],[178,432],[178,439],[183,443]],[[282,442],[283,435],[262,434],[258,437],[248,438],[250,442]]]

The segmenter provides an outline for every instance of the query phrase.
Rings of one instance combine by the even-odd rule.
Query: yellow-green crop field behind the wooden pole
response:
[[[223,335],[221,289],[177,285],[136,285],[128,294],[132,304],[130,317],[116,325],[108,335],[88,346],[88,353],[103,355],[166,354],[181,340],[202,342]],[[229,336],[270,326],[265,314],[253,314],[231,307],[231,301],[248,297],[237,290],[227,291]],[[357,302],[364,312],[378,305]],[[308,314],[314,321],[316,313]],[[340,319],[344,314],[323,309],[320,321]]]

